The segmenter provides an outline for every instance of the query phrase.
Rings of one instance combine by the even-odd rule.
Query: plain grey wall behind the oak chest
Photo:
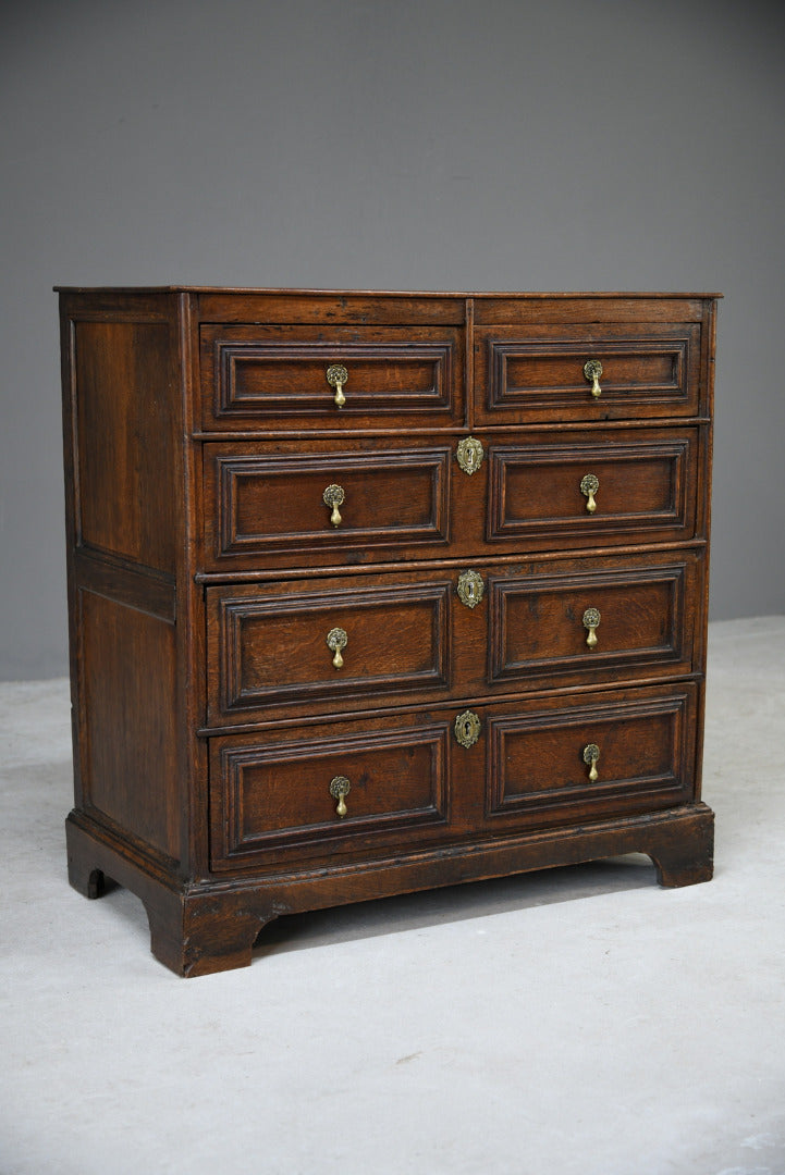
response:
[[[8,0],[0,677],[67,672],[54,284],[723,291],[711,615],[785,612],[780,0]]]

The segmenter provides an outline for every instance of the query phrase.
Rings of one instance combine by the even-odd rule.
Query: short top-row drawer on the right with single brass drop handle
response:
[[[608,421],[696,416],[700,327],[478,328],[477,421]],[[597,380],[586,368],[599,363]]]

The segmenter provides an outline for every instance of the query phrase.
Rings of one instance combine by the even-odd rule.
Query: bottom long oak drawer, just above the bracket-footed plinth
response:
[[[698,697],[684,682],[213,738],[213,868],[403,859],[689,804]]]

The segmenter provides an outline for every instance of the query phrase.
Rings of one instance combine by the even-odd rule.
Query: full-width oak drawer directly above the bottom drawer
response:
[[[222,585],[208,723],[693,672],[700,550]]]

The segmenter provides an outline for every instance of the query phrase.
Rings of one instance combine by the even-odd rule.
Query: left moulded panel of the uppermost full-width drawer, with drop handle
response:
[[[449,542],[451,448],[375,442],[204,446],[206,558],[217,568],[365,563]]]

